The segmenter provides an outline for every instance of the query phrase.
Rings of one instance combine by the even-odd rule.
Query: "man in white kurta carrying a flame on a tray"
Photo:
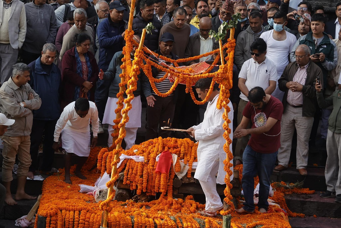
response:
[[[201,99],[205,99],[211,82],[211,78],[203,78],[195,83],[194,88]],[[188,129],[192,131],[189,134],[199,141],[197,149],[198,166],[195,170],[194,178],[199,180],[205,193],[205,210],[201,212],[205,216],[216,216],[217,211],[224,207],[216,187],[217,184],[225,184],[224,178],[226,176],[223,163],[226,159],[226,153],[223,148],[226,143],[223,137],[224,109],[219,110],[217,108],[219,97],[217,88],[218,85],[214,85],[213,92],[208,98],[204,121]],[[231,123],[228,125],[230,129],[233,129],[233,106],[231,102],[228,103],[228,107],[231,108],[231,111],[228,113],[228,119],[231,120]],[[229,137],[232,138],[233,134],[231,133]],[[230,150],[232,151],[232,144],[230,145]],[[233,167],[230,169],[233,171]]]

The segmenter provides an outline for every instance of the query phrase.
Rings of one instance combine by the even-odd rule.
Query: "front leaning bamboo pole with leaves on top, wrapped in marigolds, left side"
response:
[[[140,44],[138,46],[138,50],[142,50],[143,48],[143,43],[144,43],[144,40],[145,40],[145,36],[146,36],[146,29],[143,29],[142,31],[142,36],[141,36],[141,40],[140,40]],[[134,68],[135,67],[138,67],[136,64],[133,66]],[[133,69],[131,70],[131,72],[133,71]],[[130,80],[137,80],[137,75],[134,75]],[[131,89],[130,93],[128,94],[128,98],[130,98],[131,96],[133,96],[133,90],[132,90],[132,85],[133,83],[130,84],[129,86],[129,89]],[[128,99],[127,98],[127,99]],[[130,102],[127,102],[125,104],[125,108],[128,108],[129,106],[131,106]],[[122,122],[124,120],[126,120],[128,118],[128,112],[125,112],[123,114],[123,118],[122,118]],[[118,138],[120,138],[120,136],[124,133],[125,131],[125,124],[123,124],[120,128],[120,131],[119,131],[119,136]],[[119,150],[121,148],[121,143],[122,143],[122,140],[119,140],[119,142],[117,143],[116,145],[116,150]],[[120,155],[119,153],[116,153],[115,154],[115,157],[114,157],[114,161],[117,161],[119,159]],[[113,165],[113,168],[111,170],[111,176],[110,176],[110,180],[112,180],[114,178],[114,176],[116,175],[116,172],[117,172],[117,164]],[[107,198],[109,198],[109,196],[112,194],[113,192],[113,187],[114,187],[114,183],[112,183],[109,188],[108,188],[108,195],[107,195]],[[109,215],[109,212],[108,211],[104,211],[104,219],[103,219],[103,225],[101,226],[101,228],[107,228],[107,224],[108,224],[108,215]]]

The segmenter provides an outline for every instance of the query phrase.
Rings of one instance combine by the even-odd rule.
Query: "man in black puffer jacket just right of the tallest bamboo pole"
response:
[[[154,18],[154,1],[142,0],[140,1],[140,12],[133,19],[133,30],[137,30],[135,30],[135,35],[141,37],[142,30],[148,23],[152,23],[155,28],[151,34],[146,34],[144,45],[150,50],[157,50],[159,47],[161,23],[156,17]],[[126,28],[128,28],[128,25]]]

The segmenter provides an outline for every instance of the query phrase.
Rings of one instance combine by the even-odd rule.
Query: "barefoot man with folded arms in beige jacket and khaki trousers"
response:
[[[25,183],[31,165],[32,110],[39,109],[42,104],[39,95],[27,83],[30,80],[30,68],[24,63],[17,63],[12,68],[12,77],[4,82],[0,88],[0,112],[6,118],[15,120],[8,131],[1,136],[3,141],[2,183],[6,188],[5,203],[9,205],[17,204],[15,200],[36,199],[36,197],[25,193]],[[11,182],[16,156],[19,160],[18,187],[13,199]]]

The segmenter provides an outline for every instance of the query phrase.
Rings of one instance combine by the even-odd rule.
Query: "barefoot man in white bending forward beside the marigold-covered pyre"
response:
[[[65,154],[65,182],[71,183],[70,166],[71,156],[78,156],[78,163],[75,169],[75,175],[80,179],[86,179],[80,173],[81,167],[86,162],[90,154],[90,119],[92,124],[93,138],[91,148],[97,144],[97,134],[99,128],[98,111],[95,103],[86,98],[78,98],[64,108],[56,124],[55,139],[53,149],[58,151],[59,136],[62,135],[62,147]]]

